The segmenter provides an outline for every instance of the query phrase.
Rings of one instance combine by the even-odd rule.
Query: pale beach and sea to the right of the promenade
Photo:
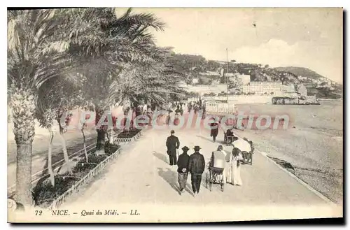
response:
[[[283,111],[289,114],[290,128],[286,130],[235,130],[238,136],[253,141],[255,149],[266,152],[276,164],[286,168],[297,178],[337,204],[343,202],[343,133],[342,111],[339,105],[331,106],[276,106],[239,105],[241,108],[267,110],[272,114]],[[269,113],[269,114],[271,114]],[[332,116],[329,116],[332,113]],[[312,117],[316,115],[316,117]],[[325,142],[325,140],[328,140]],[[282,164],[281,164],[282,163]]]

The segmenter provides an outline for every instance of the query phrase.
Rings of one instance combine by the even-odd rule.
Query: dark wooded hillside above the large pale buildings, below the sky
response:
[[[201,55],[176,54],[167,59],[167,65],[183,73],[182,80],[192,85],[197,78],[199,85],[211,85],[216,82],[225,83],[228,78],[221,76],[223,73],[238,73],[251,76],[251,81],[282,82],[283,85],[304,84],[310,95],[318,98],[339,99],[342,98],[342,85],[329,80],[310,69],[303,67],[287,66],[272,68],[269,65],[239,63],[231,60],[229,63],[215,60],[207,60]],[[229,88],[241,87],[237,80],[229,79]],[[313,90],[311,90],[313,89]]]

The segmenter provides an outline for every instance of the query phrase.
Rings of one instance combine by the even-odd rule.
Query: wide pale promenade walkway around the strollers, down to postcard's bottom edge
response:
[[[141,208],[141,219],[123,219],[125,221],[155,221],[154,218],[159,221],[259,220],[342,215],[339,209],[335,211],[335,206],[259,153],[253,156],[253,166],[242,166],[242,186],[227,184],[224,192],[214,186],[210,192],[204,187],[204,172],[199,196],[192,195],[190,176],[186,193],[181,196],[177,191],[177,168],[168,164],[167,136],[167,129],[144,131],[137,143],[123,147],[120,156],[106,171],[63,207],[78,208],[78,212],[97,207],[125,206],[138,210],[144,207]],[[211,141],[209,131],[182,129],[176,131],[176,136],[180,139],[180,148],[184,145],[190,148],[189,154],[193,153],[194,145],[200,145],[206,161],[218,147],[218,143]],[[219,132],[218,141],[223,141],[222,137]],[[232,148],[225,146],[224,150]],[[176,213],[178,211],[180,213]]]

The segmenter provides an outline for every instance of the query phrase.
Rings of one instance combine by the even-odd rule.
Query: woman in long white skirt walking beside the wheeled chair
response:
[[[243,159],[241,151],[237,148],[233,148],[232,154],[230,154],[230,161],[228,163],[228,175],[226,180],[232,185],[242,185],[241,182],[241,165],[240,161]]]

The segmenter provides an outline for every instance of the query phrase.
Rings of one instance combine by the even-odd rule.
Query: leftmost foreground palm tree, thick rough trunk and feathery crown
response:
[[[76,28],[69,10],[8,12],[8,99],[17,143],[16,196],[25,206],[31,197],[31,146],[38,89],[71,68],[71,32]]]

